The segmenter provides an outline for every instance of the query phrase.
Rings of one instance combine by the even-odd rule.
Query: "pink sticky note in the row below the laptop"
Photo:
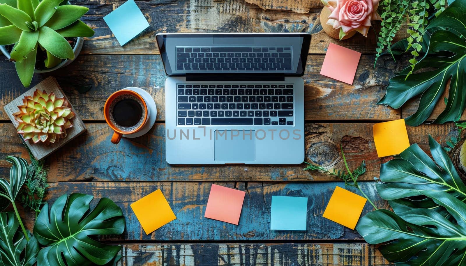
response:
[[[246,192],[212,184],[204,217],[238,225]]]

